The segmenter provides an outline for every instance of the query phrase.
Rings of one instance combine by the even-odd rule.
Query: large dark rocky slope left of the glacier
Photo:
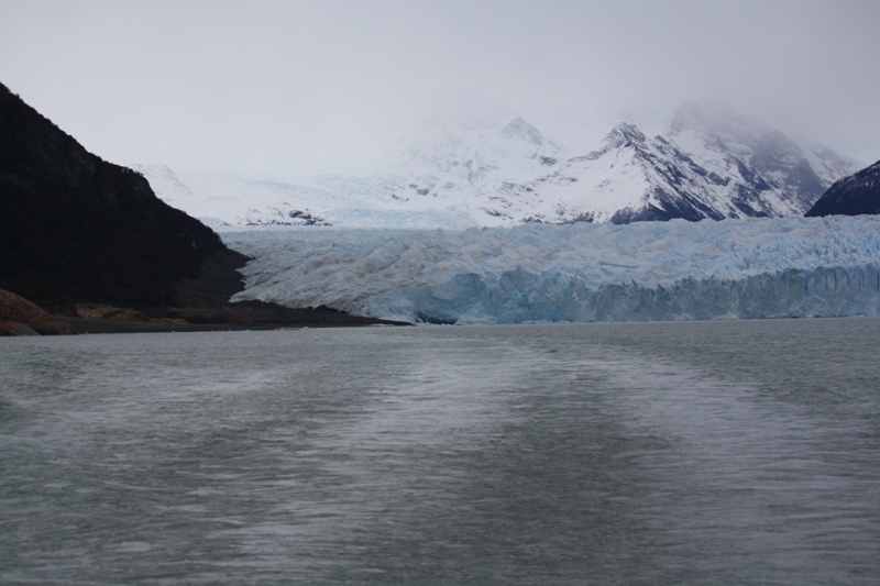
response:
[[[43,307],[157,306],[206,262],[222,274],[215,280],[240,287],[245,261],[0,85],[0,287]],[[191,283],[187,294],[217,297]]]

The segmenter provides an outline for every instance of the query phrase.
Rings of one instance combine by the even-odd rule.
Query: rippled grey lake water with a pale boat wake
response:
[[[0,340],[2,584],[878,584],[880,319]]]

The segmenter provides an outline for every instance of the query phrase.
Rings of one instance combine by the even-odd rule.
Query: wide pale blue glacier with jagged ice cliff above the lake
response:
[[[233,301],[413,323],[880,314],[880,217],[221,232]]]

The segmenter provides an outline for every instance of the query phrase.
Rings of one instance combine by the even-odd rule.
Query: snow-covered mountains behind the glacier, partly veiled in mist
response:
[[[284,183],[136,168],[168,203],[215,225],[349,228],[796,217],[858,168],[704,102],[650,126],[618,119],[597,141],[586,128],[558,124],[549,136],[495,107],[435,117],[370,176]]]

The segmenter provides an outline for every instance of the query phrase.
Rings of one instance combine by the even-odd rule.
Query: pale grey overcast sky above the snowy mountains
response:
[[[880,0],[0,0],[0,81],[120,164],[356,169],[448,102],[724,97],[880,159]]]

